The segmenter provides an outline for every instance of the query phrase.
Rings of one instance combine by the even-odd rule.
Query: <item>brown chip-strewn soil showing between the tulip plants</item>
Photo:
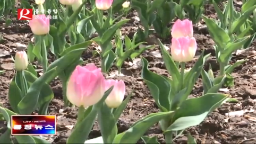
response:
[[[239,5],[237,5],[239,7]],[[209,17],[216,17],[214,8],[211,5],[205,7],[206,14]],[[139,24],[134,17],[138,15],[136,12],[132,12],[127,15],[127,18],[132,19],[130,23],[127,23],[123,28],[123,34],[132,35],[136,30],[136,25]],[[14,67],[11,56],[14,56],[15,53],[15,43],[20,42],[23,44],[28,44],[32,38],[32,33],[27,24],[21,23],[13,19],[11,26],[5,27],[4,23],[1,22],[1,32],[3,33],[3,41],[0,43],[0,65],[1,69],[6,70],[5,73],[0,75],[0,104],[4,107],[10,108],[8,104],[7,94],[8,87],[11,82],[11,79],[14,76]],[[203,23],[202,23],[203,24]],[[206,29],[199,29],[198,26],[195,26],[194,37],[198,42],[198,57],[202,49],[206,49],[204,54],[211,53],[212,56],[215,56],[213,49],[214,42],[211,40],[209,33]],[[130,34],[129,34],[130,33]],[[164,42],[164,41],[163,41]],[[169,46],[169,42],[164,42],[166,46]],[[232,62],[235,62],[239,59],[247,59],[242,66],[237,67],[232,74],[235,79],[235,86],[228,88],[228,91],[223,93],[231,95],[231,97],[236,98],[240,102],[238,103],[227,103],[223,106],[216,109],[212,114],[210,114],[200,125],[197,127],[189,128],[185,131],[184,135],[178,137],[174,140],[176,143],[186,143],[186,133],[190,132],[192,136],[197,139],[198,143],[256,143],[256,130],[255,125],[256,121],[248,119],[249,116],[256,116],[255,102],[256,102],[256,67],[255,65],[255,54],[254,47],[256,46],[256,41],[254,41],[250,51],[247,51],[245,54],[234,55]],[[88,49],[87,52],[83,54],[83,59],[88,60],[88,62],[94,62],[96,65],[100,65],[99,57],[92,57],[91,50],[93,46]],[[155,73],[161,75],[169,75],[165,66],[163,65],[163,58],[157,57],[156,55],[151,55],[151,51],[159,50],[156,47],[154,50],[146,51],[142,54],[149,63],[150,69],[155,71]],[[186,65],[186,68],[193,66],[195,61],[189,62]],[[218,65],[214,57],[207,61],[211,63],[214,72],[218,73]],[[124,64],[123,68],[129,68],[130,66]],[[207,66],[206,66],[207,67]],[[40,71],[39,71],[40,72]],[[116,68],[113,67],[109,75],[112,75],[116,72]],[[131,93],[131,89],[135,89],[132,94],[130,102],[127,104],[124,113],[121,116],[120,121],[118,121],[118,132],[123,132],[129,129],[130,125],[135,121],[141,119],[143,116],[146,116],[153,112],[158,112],[154,100],[149,92],[148,87],[144,84],[143,80],[140,78],[140,69],[130,69],[124,70],[127,75],[130,76],[115,76],[116,79],[123,79],[126,85],[126,95]],[[54,91],[54,100],[49,105],[50,114],[57,115],[57,136],[54,136],[50,139],[53,143],[65,143],[67,137],[71,133],[69,129],[70,125],[74,125],[76,122],[77,109],[71,109],[70,107],[64,107],[64,102],[62,100],[62,85],[59,80],[56,80],[51,84]],[[198,97],[202,95],[203,87],[201,79],[195,84],[194,89],[190,97]],[[59,113],[60,110],[63,110],[62,113]],[[240,111],[243,110],[245,113],[240,116],[231,116],[225,115],[228,112]],[[252,110],[248,112],[248,110]],[[247,115],[247,116],[246,116]],[[0,128],[5,127],[3,124],[4,121],[0,121]],[[0,132],[3,132],[2,129]],[[146,133],[147,136],[157,136],[160,143],[164,142],[164,136],[162,131],[158,128],[158,125],[152,127]],[[97,123],[93,127],[89,139],[96,138],[100,136],[100,130],[97,126]],[[142,143],[140,140],[138,143]]]

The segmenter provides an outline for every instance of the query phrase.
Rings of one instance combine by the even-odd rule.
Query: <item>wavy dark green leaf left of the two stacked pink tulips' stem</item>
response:
[[[145,80],[151,95],[153,96],[160,111],[166,112],[170,109],[170,83],[162,76],[148,69],[148,61],[141,57],[141,78]]]

